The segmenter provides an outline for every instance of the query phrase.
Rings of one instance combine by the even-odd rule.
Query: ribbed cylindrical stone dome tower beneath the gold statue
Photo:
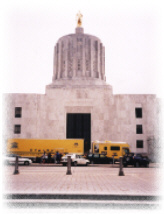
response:
[[[104,85],[105,81],[105,48],[99,38],[84,34],[78,26],[75,34],[58,40],[51,86]]]

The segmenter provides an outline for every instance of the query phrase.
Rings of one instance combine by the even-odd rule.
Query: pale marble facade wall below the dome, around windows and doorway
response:
[[[91,114],[91,140],[125,141],[133,152],[150,153],[148,138],[158,135],[159,106],[155,95],[113,95],[110,86],[47,88],[45,94],[6,94],[5,138],[65,139],[68,113]],[[15,118],[15,107],[22,107]],[[142,108],[136,118],[135,108]],[[21,133],[14,134],[14,125]],[[142,125],[142,134],[136,133]],[[143,140],[143,148],[136,148]]]

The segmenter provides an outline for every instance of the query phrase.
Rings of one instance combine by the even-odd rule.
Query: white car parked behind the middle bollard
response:
[[[82,155],[78,154],[67,154],[61,158],[61,163],[63,166],[67,165],[68,162],[68,156],[71,156],[71,165],[77,166],[77,165],[88,165],[90,161],[86,158],[84,158]]]

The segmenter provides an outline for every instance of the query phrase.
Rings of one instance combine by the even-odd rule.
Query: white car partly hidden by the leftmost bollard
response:
[[[16,155],[14,154],[6,155],[4,157],[5,164],[15,164],[15,161],[16,161]],[[31,159],[18,156],[18,164],[30,165],[31,163],[32,163]]]

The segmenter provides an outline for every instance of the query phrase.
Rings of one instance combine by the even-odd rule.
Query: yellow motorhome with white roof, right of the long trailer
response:
[[[92,153],[93,154],[104,154],[111,161],[114,159],[119,160],[120,156],[130,152],[129,144],[126,142],[113,142],[113,141],[93,141],[92,142]]]

